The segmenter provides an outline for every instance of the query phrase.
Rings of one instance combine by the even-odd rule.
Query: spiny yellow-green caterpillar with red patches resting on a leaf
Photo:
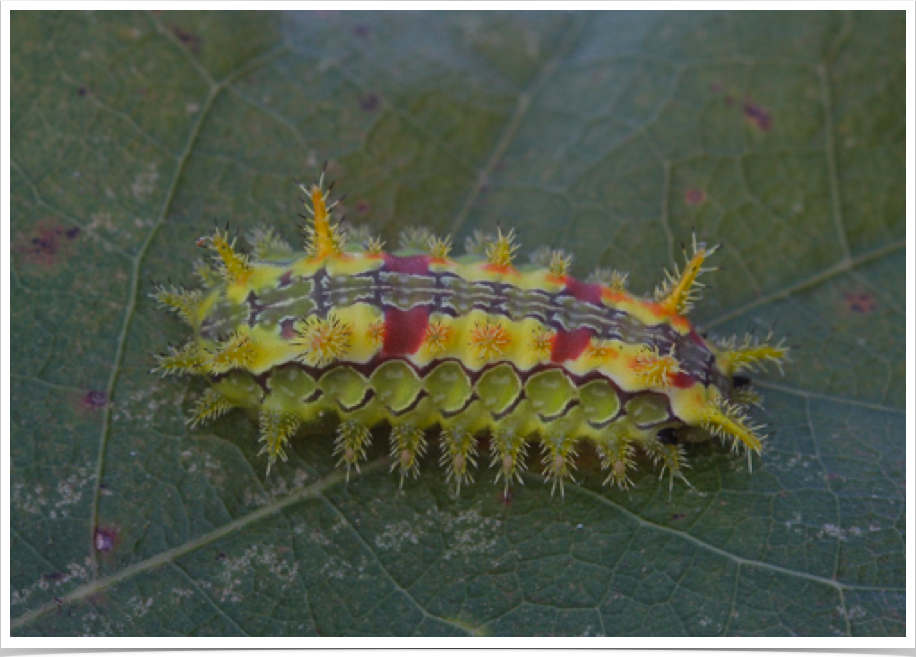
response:
[[[784,340],[708,340],[687,318],[699,277],[719,246],[693,236],[686,265],[666,271],[649,297],[626,275],[570,275],[570,255],[536,252],[518,265],[513,230],[468,240],[414,229],[398,250],[335,215],[325,172],[299,184],[304,252],[272,228],[236,249],[228,228],[197,245],[211,252],[198,289],[159,285],[151,296],[193,336],[156,354],[161,375],[209,381],[188,418],[197,426],[241,407],[257,412],[267,473],[300,426],[336,416],[333,456],[359,470],[377,425],[390,427],[391,470],[416,477],[430,432],[457,486],[473,481],[490,436],[495,482],[521,481],[540,444],[541,473],[563,493],[577,452],[591,443],[605,484],[633,485],[637,450],[685,479],[691,442],[718,438],[759,453],[764,427],[748,374],[782,369]],[[685,479],[686,481],[686,479]]]

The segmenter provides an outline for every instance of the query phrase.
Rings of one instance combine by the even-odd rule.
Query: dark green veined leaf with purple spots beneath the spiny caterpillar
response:
[[[904,14],[12,15],[11,623],[17,635],[891,635],[905,593]],[[214,223],[300,243],[327,160],[349,221],[497,223],[651,291],[692,228],[694,318],[774,322],[778,429],[692,488],[431,449],[348,485],[329,431],[265,477],[257,427],[185,425],[151,375]],[[432,446],[435,447],[435,446]],[[489,457],[481,455],[481,465]],[[532,463],[532,467],[535,464]]]

